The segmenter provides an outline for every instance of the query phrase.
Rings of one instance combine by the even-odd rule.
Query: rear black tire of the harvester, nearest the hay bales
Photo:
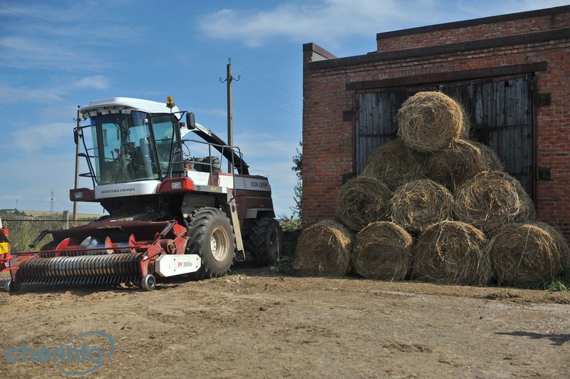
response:
[[[274,264],[283,250],[283,230],[276,219],[259,219],[249,234],[252,259],[259,266]]]

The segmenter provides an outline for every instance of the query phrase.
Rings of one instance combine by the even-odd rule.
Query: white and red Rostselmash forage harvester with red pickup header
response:
[[[99,202],[108,216],[41,232],[31,249],[48,235],[52,241],[13,254],[10,290],[131,281],[152,290],[155,276],[224,275],[236,253],[260,265],[278,259],[282,234],[269,181],[249,175],[239,149],[196,124],[192,113],[182,123],[184,112],[173,103],[132,98],[94,101],[80,112],[91,121],[74,130],[89,169],[80,176],[93,189],[71,190],[70,199]],[[190,132],[201,140],[185,139]],[[205,156],[190,155],[200,148]],[[229,172],[221,170],[224,159]]]

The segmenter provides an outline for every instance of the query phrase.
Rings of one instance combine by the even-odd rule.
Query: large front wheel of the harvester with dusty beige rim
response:
[[[215,278],[226,274],[232,266],[235,249],[234,228],[224,212],[204,207],[192,213],[186,252],[198,254],[202,259],[202,266],[191,274],[192,278]]]

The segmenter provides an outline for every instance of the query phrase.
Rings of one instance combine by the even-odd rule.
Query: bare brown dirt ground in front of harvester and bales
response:
[[[0,291],[0,377],[568,378],[569,291],[295,277],[236,266],[155,291]],[[100,335],[78,336],[89,331]],[[92,361],[10,363],[98,346]],[[90,337],[90,339],[88,338]],[[33,349],[33,350],[32,350]],[[49,351],[48,351],[49,352]],[[76,356],[76,355],[72,355]],[[37,358],[37,357],[36,357]],[[78,359],[78,358],[76,358]],[[95,362],[95,363],[94,363]]]

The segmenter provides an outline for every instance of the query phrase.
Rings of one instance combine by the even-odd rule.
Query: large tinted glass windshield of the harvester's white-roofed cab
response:
[[[161,180],[168,175],[178,141],[174,116],[133,110],[94,116],[91,127],[99,185]]]

